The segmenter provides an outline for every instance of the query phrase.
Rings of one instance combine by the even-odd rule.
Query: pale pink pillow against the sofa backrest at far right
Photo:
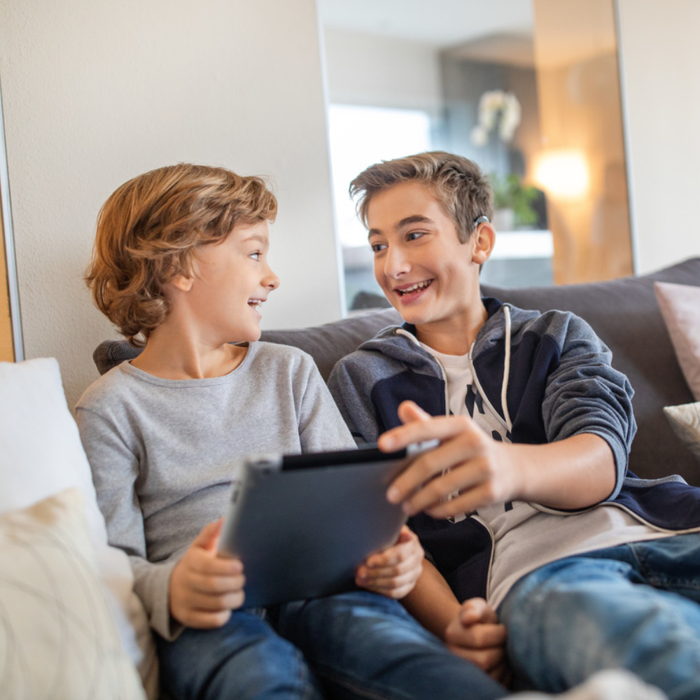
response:
[[[700,401],[700,287],[654,282],[654,292],[685,381]]]

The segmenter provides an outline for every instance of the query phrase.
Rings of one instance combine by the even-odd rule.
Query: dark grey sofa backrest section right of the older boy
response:
[[[673,433],[664,406],[694,401],[680,371],[671,338],[654,295],[654,282],[700,286],[700,258],[659,272],[605,282],[499,289],[484,295],[524,309],[573,311],[591,324],[612,351],[612,365],[627,375],[637,435],[629,468],[640,477],[680,474],[700,486],[700,463]]]

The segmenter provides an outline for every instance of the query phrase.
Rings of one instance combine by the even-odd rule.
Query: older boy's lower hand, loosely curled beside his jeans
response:
[[[464,601],[444,633],[449,650],[507,685],[510,670],[505,658],[505,638],[505,626],[483,598]]]

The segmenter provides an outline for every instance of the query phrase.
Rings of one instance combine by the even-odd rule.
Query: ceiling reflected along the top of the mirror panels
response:
[[[316,0],[324,29],[449,49],[476,61],[532,66],[535,0]],[[612,0],[540,0],[537,64],[615,53]]]

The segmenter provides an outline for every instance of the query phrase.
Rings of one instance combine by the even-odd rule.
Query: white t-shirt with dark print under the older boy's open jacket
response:
[[[426,344],[421,346],[442,365],[450,413],[469,415],[494,440],[510,442],[502,421],[474,390],[469,354],[445,355]],[[612,504],[580,514],[559,515],[515,500],[479,508],[475,515],[493,535],[493,564],[488,584],[488,599],[493,608],[498,607],[519,578],[551,561],[673,534],[659,532]],[[454,521],[464,517],[461,514]]]

